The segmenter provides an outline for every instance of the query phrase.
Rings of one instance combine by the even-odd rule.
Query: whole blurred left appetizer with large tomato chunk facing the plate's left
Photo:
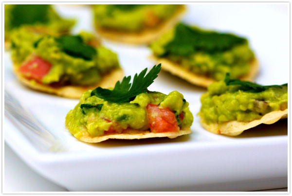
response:
[[[88,89],[113,87],[123,76],[117,54],[87,32],[41,36],[21,27],[12,33],[11,48],[18,79],[32,89],[80,98]]]

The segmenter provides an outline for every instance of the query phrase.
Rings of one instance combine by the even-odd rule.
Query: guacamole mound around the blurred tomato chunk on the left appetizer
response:
[[[95,85],[120,65],[116,53],[103,46],[91,46],[96,42],[94,39],[86,32],[75,36],[41,36],[21,27],[12,34],[12,60],[19,71],[32,56],[49,64],[48,72],[38,81],[42,84]]]

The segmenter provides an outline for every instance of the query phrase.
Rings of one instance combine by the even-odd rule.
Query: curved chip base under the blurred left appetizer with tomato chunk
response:
[[[110,88],[114,87],[115,83],[120,80],[123,75],[124,71],[120,68],[110,71],[108,74],[104,75],[102,80],[94,86],[87,86],[87,87],[81,87],[81,86],[64,86],[64,87],[58,87],[54,88],[49,85],[40,84],[40,83],[32,83],[31,80],[25,78],[22,76],[21,73],[19,73],[17,66],[14,66],[14,72],[16,76],[18,77],[18,80],[28,86],[31,89],[56,94],[58,96],[67,97],[67,98],[76,98],[79,99],[81,97],[81,94],[89,89],[95,89],[96,87],[102,87],[102,88]]]

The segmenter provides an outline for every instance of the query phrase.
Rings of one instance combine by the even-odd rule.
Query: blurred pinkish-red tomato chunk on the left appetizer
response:
[[[51,63],[36,56],[32,60],[22,64],[18,71],[28,78],[41,81],[41,79],[51,70],[51,67]]]

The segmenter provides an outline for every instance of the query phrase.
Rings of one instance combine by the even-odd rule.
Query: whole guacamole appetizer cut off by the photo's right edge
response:
[[[261,86],[231,79],[208,87],[201,96],[201,125],[210,132],[237,136],[259,124],[273,124],[288,114],[288,86]]]

